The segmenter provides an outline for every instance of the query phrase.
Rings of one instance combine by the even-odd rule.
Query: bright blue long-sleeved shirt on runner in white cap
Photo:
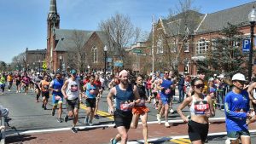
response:
[[[249,111],[249,97],[246,90],[241,94],[230,91],[224,100],[227,131],[248,130],[246,120]]]

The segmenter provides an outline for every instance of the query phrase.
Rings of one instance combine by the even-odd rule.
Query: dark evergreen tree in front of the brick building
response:
[[[232,76],[237,72],[247,73],[247,55],[241,52],[243,33],[240,25],[228,24],[218,37],[212,39],[212,49],[208,49],[206,60],[197,61],[201,71],[208,75],[224,73]]]

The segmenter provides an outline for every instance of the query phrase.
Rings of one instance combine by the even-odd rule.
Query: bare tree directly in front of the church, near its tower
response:
[[[77,30],[73,31],[72,37],[68,37],[70,43],[67,49],[67,65],[79,71],[84,71],[87,63],[84,50],[85,37],[84,32]]]

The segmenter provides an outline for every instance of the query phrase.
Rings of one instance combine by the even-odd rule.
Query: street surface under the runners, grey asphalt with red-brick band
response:
[[[67,123],[58,123],[56,116],[51,116],[51,98],[47,110],[44,110],[42,102],[35,102],[35,94],[30,90],[28,95],[16,94],[13,89],[0,95],[0,104],[9,108],[9,129],[7,129],[7,143],[108,143],[117,130],[113,128],[113,117],[108,114],[108,106],[105,91],[99,107],[99,119],[94,119],[93,126],[84,125],[84,105],[79,110],[79,133],[73,134],[70,130],[71,120]],[[178,104],[174,102],[173,109]],[[187,125],[181,123],[177,112],[169,115],[171,128],[165,128],[164,124],[156,124],[156,111],[152,103],[148,104],[148,138],[153,143],[190,143],[187,136]],[[64,112],[66,107],[64,105]],[[184,113],[189,115],[189,109],[184,109]],[[63,118],[63,116],[62,116]],[[217,110],[216,118],[212,120],[224,121],[224,112]],[[224,143],[225,128],[223,122],[210,124],[208,143]],[[250,130],[256,130],[256,124],[251,124]],[[68,138],[67,138],[68,136]],[[142,127],[137,130],[130,130],[129,143],[142,143]],[[254,139],[255,132],[252,132]],[[254,140],[253,140],[254,141]],[[256,141],[252,142],[256,143]]]

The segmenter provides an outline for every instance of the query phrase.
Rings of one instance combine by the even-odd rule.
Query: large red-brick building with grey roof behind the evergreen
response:
[[[208,49],[212,49],[213,38],[228,23],[241,24],[240,31],[250,37],[248,14],[255,4],[246,3],[212,14],[188,11],[166,20],[159,18],[153,25],[148,48],[154,52],[148,58],[154,59],[154,71],[173,66],[178,73],[196,75],[199,67],[195,61],[205,60]]]

